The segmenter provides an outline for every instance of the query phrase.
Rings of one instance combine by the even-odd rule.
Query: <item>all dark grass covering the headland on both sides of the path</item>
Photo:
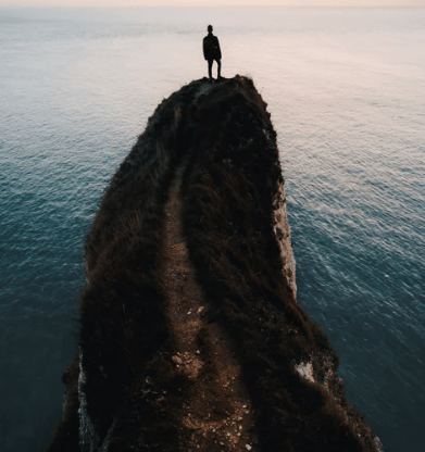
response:
[[[170,360],[160,247],[163,208],[183,156],[189,158],[184,226],[190,256],[210,322],[226,328],[240,359],[260,449],[372,450],[372,432],[329,373],[338,365],[334,350],[282,275],[273,211],[283,178],[265,104],[245,77],[197,99],[204,86],[193,81],[159,105],[102,198],[85,248],[80,354],[64,374],[67,404],[49,451],[79,450],[78,407],[82,450],[102,443],[111,451],[180,450],[187,381]],[[308,361],[315,384],[295,369]]]

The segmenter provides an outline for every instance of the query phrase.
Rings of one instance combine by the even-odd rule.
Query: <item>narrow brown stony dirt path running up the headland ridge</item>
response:
[[[162,250],[166,315],[178,349],[172,359],[191,382],[180,413],[183,445],[188,452],[255,451],[254,416],[240,366],[225,331],[215,322],[208,323],[208,305],[188,256],[179,193],[185,166],[177,168],[165,204]]]

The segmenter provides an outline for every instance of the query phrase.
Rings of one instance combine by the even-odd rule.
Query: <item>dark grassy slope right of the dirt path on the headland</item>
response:
[[[226,328],[242,363],[263,450],[370,450],[370,428],[329,377],[335,351],[282,276],[273,211],[283,178],[265,106],[251,80],[236,78],[192,116],[184,215],[191,259],[215,306],[212,321]],[[312,360],[316,381],[328,375],[334,397],[295,371]]]

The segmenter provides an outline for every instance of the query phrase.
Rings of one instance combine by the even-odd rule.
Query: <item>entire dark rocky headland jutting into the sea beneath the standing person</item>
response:
[[[87,237],[50,451],[375,451],[297,303],[276,134],[251,79],[164,100]]]

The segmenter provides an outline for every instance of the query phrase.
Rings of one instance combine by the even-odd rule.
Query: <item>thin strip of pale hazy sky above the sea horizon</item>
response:
[[[0,0],[0,7],[425,7],[425,0]]]

